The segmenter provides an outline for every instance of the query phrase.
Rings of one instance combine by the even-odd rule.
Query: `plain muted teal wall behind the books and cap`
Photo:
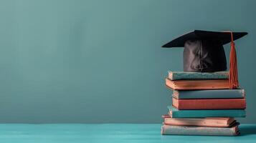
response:
[[[256,1],[1,0],[0,122],[161,123],[166,71],[194,29],[247,31],[237,44],[247,117],[255,114]],[[229,51],[229,45],[226,45]]]

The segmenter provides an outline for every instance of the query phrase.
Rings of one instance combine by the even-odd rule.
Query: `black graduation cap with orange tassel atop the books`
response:
[[[184,71],[214,72],[227,69],[223,45],[231,42],[229,88],[234,89],[239,87],[234,40],[245,35],[247,32],[194,30],[179,36],[162,47],[184,47]]]

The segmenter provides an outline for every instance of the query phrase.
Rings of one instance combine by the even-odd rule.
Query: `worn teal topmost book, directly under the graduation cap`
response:
[[[229,79],[228,71],[217,72],[188,72],[188,71],[168,71],[171,80],[181,79]]]

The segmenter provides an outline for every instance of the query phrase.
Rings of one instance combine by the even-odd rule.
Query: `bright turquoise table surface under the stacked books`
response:
[[[256,124],[238,137],[163,136],[161,124],[0,124],[0,142],[256,142]]]

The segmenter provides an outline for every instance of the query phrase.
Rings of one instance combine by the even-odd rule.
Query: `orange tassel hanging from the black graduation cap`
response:
[[[231,49],[229,54],[229,89],[236,89],[239,87],[238,82],[238,72],[237,72],[237,54],[235,51],[234,41],[233,41],[233,34],[231,34]]]

